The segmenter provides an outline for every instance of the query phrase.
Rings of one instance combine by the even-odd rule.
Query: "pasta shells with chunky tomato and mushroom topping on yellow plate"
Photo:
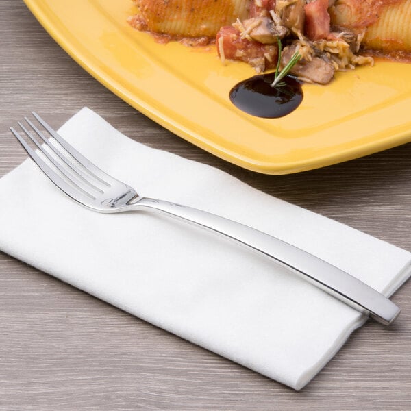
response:
[[[222,62],[247,62],[258,73],[286,66],[296,53],[291,73],[318,84],[372,65],[373,53],[411,62],[411,0],[134,2],[133,27],[167,40],[215,40]]]

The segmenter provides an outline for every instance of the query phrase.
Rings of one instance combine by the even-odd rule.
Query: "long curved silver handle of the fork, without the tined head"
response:
[[[210,229],[217,234],[223,234],[223,236],[236,240],[240,244],[272,258],[275,262],[286,266],[286,268],[294,271],[314,286],[321,288],[363,314],[369,314],[373,319],[384,325],[392,323],[401,312],[393,301],[390,301],[380,292],[349,273],[288,244],[288,242],[247,225],[236,223],[236,221],[197,208],[147,197],[138,197],[126,209],[130,210],[130,208],[133,210],[149,209],[163,212],[187,223],[193,223]]]

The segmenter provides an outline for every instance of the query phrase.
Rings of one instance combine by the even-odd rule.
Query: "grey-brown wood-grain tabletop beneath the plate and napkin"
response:
[[[23,2],[1,0],[0,23],[0,175],[25,158],[10,125],[36,109],[59,127],[87,105],[134,140],[411,251],[410,144],[295,175],[246,171],[106,90]],[[395,325],[369,321],[297,393],[0,253],[0,410],[411,410],[410,297],[408,282]]]

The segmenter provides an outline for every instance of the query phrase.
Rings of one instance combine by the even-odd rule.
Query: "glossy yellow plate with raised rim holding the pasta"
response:
[[[25,0],[49,34],[112,92],[167,129],[253,171],[295,173],[411,140],[411,64],[377,62],[304,85],[303,103],[282,119],[259,119],[230,103],[255,73],[223,66],[210,51],[161,45],[126,23],[131,0]]]

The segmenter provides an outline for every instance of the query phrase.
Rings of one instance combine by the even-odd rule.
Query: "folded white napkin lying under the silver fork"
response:
[[[385,295],[410,275],[407,251],[210,166],[145,147],[88,108],[60,134],[140,195],[256,227]],[[5,253],[297,390],[366,321],[264,256],[206,230],[160,214],[82,208],[31,160],[0,179],[0,227]]]

